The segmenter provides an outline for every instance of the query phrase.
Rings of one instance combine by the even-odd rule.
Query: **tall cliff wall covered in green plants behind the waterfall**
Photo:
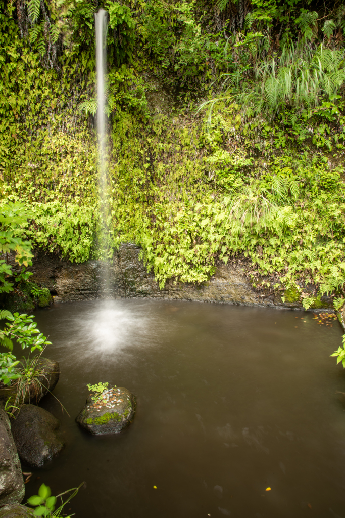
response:
[[[241,32],[243,20],[236,28],[231,9],[219,17],[206,0],[106,2],[109,141],[101,198],[94,128],[94,11],[101,4],[34,4],[35,20],[21,0],[0,0],[0,195],[32,211],[26,234],[37,249],[63,257],[58,264],[78,277],[133,242],[162,290],[141,266],[155,296],[168,296],[169,286],[168,293],[216,300],[220,272],[242,260],[248,289],[259,290],[263,304],[275,296],[282,305],[322,305],[320,293],[342,303],[343,87],[330,97],[320,86],[314,104],[281,103],[264,119],[239,94],[248,70],[278,60],[281,30],[267,38],[265,27]],[[321,63],[321,43],[305,45],[310,66]],[[202,100],[220,93],[222,74],[233,80],[233,95],[212,113],[197,113]]]

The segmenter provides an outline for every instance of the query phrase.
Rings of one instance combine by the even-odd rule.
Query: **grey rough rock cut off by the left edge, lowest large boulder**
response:
[[[0,506],[20,503],[24,498],[24,480],[11,426],[0,408]]]

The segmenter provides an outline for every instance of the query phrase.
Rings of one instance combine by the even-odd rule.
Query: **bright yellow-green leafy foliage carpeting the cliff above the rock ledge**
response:
[[[0,13],[2,197],[31,208],[27,235],[36,246],[71,261],[108,255],[99,239],[104,227],[106,248],[136,242],[160,286],[169,278],[204,282],[218,258],[227,262],[243,253],[252,261],[253,277],[279,276],[288,289],[302,280],[320,285],[321,292],[341,290],[342,100],[325,100],[298,116],[281,109],[280,119],[269,123],[249,117],[234,99],[218,103],[206,124],[209,112],[196,117],[198,103],[190,102],[188,92],[185,103],[179,97],[179,108],[173,108],[178,99],[156,106],[151,100],[149,108],[153,71],[160,77],[164,67],[176,73],[164,76],[173,87],[179,77],[190,83],[196,75],[193,84],[204,92],[222,55],[223,36],[217,36],[219,45],[215,36],[203,36],[190,6],[170,6],[170,22],[161,2],[149,4],[141,18],[137,12],[142,48],[130,51],[132,58],[137,52],[132,62],[109,44],[107,221],[92,117],[79,109],[94,102],[92,43],[60,53],[59,67],[43,66],[38,43],[22,38],[13,17]],[[92,24],[92,13],[87,16]],[[167,32],[171,41],[163,38]],[[119,45],[114,34],[108,39],[114,36]],[[175,49],[171,58],[168,43]],[[212,59],[211,74],[206,60]],[[335,114],[339,124],[331,130]]]

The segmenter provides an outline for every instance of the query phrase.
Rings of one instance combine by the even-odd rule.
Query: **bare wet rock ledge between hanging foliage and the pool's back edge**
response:
[[[244,275],[241,265],[219,263],[215,275],[209,281],[197,286],[170,280],[163,290],[159,289],[152,273],[147,273],[143,261],[139,260],[140,248],[132,243],[123,243],[108,266],[110,283],[107,295],[114,298],[148,297],[158,299],[181,299],[200,302],[215,302],[241,306],[262,306],[281,308],[302,308],[294,293],[265,295],[253,289]],[[83,264],[70,263],[58,256],[35,251],[31,280],[50,290],[56,302],[91,300],[99,298],[106,291],[102,282],[101,261],[87,261]],[[326,299],[320,309],[331,307]]]

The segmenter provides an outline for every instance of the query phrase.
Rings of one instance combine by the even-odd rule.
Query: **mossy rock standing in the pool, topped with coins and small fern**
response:
[[[135,411],[134,395],[123,387],[113,387],[99,396],[90,394],[76,421],[94,435],[118,434],[133,421]]]

